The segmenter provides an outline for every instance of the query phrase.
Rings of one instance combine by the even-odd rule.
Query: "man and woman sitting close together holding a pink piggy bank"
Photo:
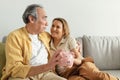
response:
[[[80,55],[65,19],[53,19],[49,34],[41,5],[29,5],[22,17],[25,26],[7,37],[1,80],[117,80]]]

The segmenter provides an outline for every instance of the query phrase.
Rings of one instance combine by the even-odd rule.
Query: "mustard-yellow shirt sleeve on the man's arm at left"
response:
[[[7,37],[5,52],[6,52],[6,75],[11,77],[25,78],[31,68],[29,64],[26,64],[24,60],[24,49],[20,46],[22,41],[16,34],[10,34]]]

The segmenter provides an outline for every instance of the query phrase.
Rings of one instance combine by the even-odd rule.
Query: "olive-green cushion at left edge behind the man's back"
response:
[[[5,45],[0,43],[0,78],[2,76],[2,68],[5,65]]]

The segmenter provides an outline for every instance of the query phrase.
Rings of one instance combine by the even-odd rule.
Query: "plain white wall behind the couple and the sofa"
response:
[[[45,7],[47,31],[53,18],[63,17],[74,37],[120,35],[120,0],[0,0],[0,41],[9,32],[24,26],[22,14],[32,3]]]

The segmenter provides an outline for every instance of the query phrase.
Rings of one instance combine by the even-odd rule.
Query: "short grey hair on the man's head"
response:
[[[28,17],[30,15],[33,16],[35,18],[35,20],[37,20],[37,18],[38,18],[37,8],[38,7],[43,8],[43,6],[38,5],[38,4],[31,4],[26,8],[26,10],[24,11],[23,16],[22,16],[25,24],[29,23]]]

